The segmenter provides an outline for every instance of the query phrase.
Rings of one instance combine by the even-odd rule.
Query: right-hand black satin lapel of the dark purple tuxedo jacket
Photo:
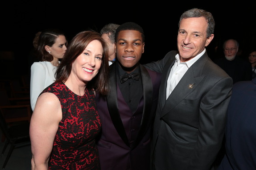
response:
[[[138,142],[140,142],[141,138],[143,138],[143,134],[147,130],[148,124],[150,123],[151,116],[151,105],[152,105],[152,97],[153,97],[153,85],[151,81],[151,77],[149,72],[146,70],[144,66],[140,64],[140,77],[142,81],[143,87],[143,99],[144,99],[144,106],[143,106],[143,115],[140,123],[140,130],[138,132],[136,141],[133,143],[132,147],[135,147]]]

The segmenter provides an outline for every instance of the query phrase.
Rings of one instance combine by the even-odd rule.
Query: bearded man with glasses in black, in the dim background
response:
[[[237,56],[238,49],[237,40],[226,40],[223,43],[225,58],[215,60],[215,63],[233,79],[233,83],[252,80],[252,67],[247,60]]]

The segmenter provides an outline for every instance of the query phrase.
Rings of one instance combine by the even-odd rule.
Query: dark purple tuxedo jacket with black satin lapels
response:
[[[117,64],[110,66],[109,94],[96,94],[102,121],[102,133],[97,141],[101,170],[149,170],[152,123],[161,74],[140,65],[143,96],[136,112],[132,113],[117,84],[120,81],[116,77]]]

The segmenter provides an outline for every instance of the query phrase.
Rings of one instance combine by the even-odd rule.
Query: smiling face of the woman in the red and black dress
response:
[[[82,54],[72,63],[70,76],[76,75],[82,82],[91,81],[99,72],[103,57],[103,47],[99,40],[92,40]]]

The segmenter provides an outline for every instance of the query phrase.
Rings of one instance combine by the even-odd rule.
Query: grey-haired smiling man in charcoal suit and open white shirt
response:
[[[178,51],[146,67],[162,73],[153,127],[152,170],[212,170],[221,149],[232,79],[205,47],[210,12],[190,9],[179,21]]]

